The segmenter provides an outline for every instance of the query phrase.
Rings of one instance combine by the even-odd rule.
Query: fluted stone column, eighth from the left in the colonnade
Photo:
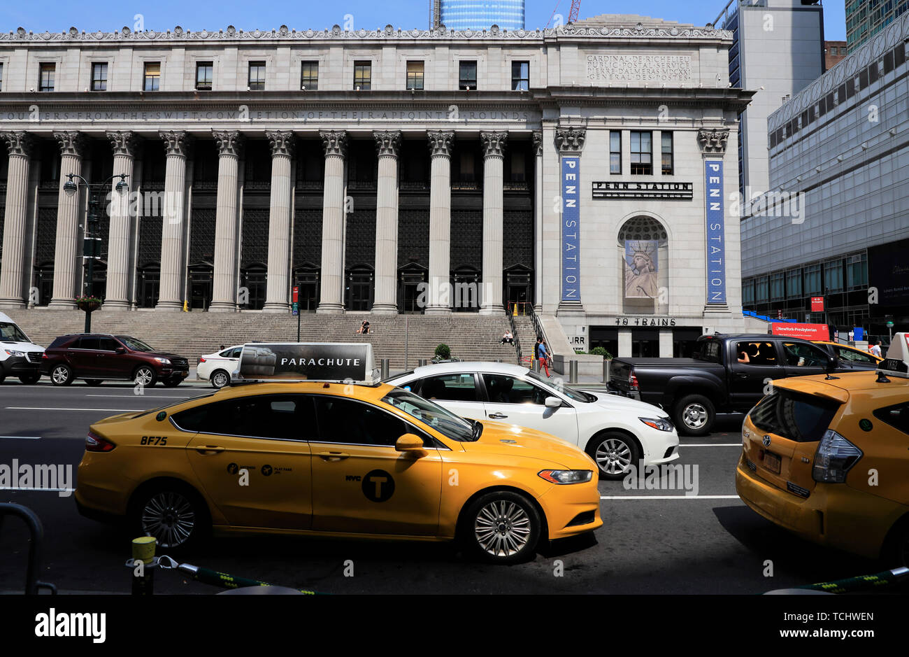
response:
[[[379,170],[375,196],[375,299],[373,312],[397,314],[397,211],[401,131],[374,132]]]

